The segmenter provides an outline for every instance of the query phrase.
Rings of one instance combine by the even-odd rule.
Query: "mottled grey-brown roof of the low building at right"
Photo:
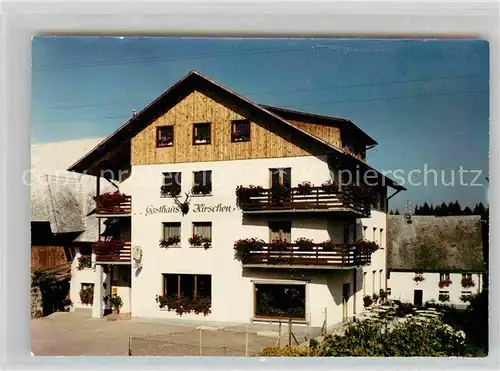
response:
[[[484,269],[481,217],[388,215],[390,270]]]

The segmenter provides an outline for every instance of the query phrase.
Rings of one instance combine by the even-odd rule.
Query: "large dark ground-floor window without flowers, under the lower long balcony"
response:
[[[255,316],[305,319],[306,286],[255,284]]]

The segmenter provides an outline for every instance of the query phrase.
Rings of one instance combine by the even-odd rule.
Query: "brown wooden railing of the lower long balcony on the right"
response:
[[[286,249],[273,248],[266,244],[260,250],[242,254],[243,266],[280,266],[290,265],[304,268],[348,268],[371,263],[371,252],[360,252],[354,244],[340,244],[333,248],[325,248],[315,244],[310,248],[299,248],[290,244]]]

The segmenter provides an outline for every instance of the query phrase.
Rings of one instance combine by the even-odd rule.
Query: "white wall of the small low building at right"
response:
[[[434,300],[437,303],[439,301],[439,292],[448,292],[450,295],[450,301],[442,304],[453,304],[457,306],[464,306],[468,303],[464,303],[460,300],[462,294],[470,292],[472,295],[478,294],[482,290],[482,274],[473,273],[472,280],[474,281],[474,286],[469,288],[462,287],[462,274],[461,273],[450,273],[451,284],[448,287],[439,288],[439,273],[423,273],[422,276],[424,280],[421,282],[415,282],[413,278],[415,277],[415,272],[391,272],[390,279],[388,280],[388,287],[391,289],[391,299],[401,300],[402,302],[413,303],[414,290],[422,290],[423,299],[422,302]]]

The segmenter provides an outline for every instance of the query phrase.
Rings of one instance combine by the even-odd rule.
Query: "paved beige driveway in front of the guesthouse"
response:
[[[90,311],[77,311],[31,320],[31,347],[40,356],[123,356],[128,355],[131,335],[134,355],[199,355],[199,326],[205,326],[201,330],[204,355],[245,355],[246,349],[258,352],[274,345],[278,335],[276,325],[249,325],[246,348],[245,325],[164,319],[106,321],[91,318]],[[293,332],[303,342],[309,329],[295,327]],[[287,326],[283,326],[280,341],[288,341]],[[164,353],[167,348],[174,353]]]

